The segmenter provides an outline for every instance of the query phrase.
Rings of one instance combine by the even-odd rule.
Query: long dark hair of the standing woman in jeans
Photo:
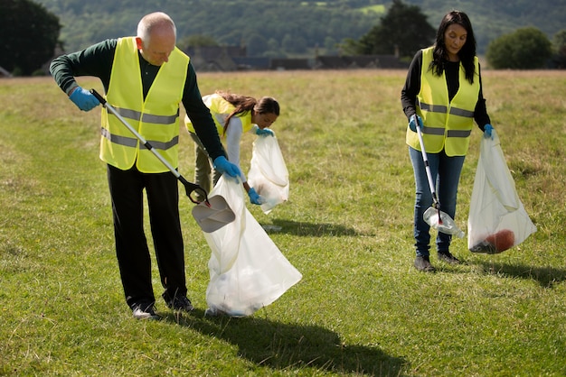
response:
[[[439,30],[437,31],[433,58],[429,68],[438,76],[442,75],[444,71],[444,61],[448,58],[446,45],[444,44],[444,33],[448,29],[448,26],[454,23],[458,23],[458,25],[466,29],[467,32],[466,43],[464,43],[462,49],[458,51],[458,58],[460,58],[462,66],[464,66],[467,80],[473,83],[476,73],[476,66],[474,65],[474,59],[476,58],[476,37],[474,36],[472,23],[464,12],[451,11],[442,18]]]

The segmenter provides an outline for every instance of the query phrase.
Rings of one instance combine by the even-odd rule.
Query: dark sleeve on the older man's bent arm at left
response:
[[[49,68],[52,77],[67,94],[73,87],[77,87],[75,77],[80,76],[100,78],[104,89],[108,91],[117,44],[118,40],[101,41],[85,50],[55,58]]]

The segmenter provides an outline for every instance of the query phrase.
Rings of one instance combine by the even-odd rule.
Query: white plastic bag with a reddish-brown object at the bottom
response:
[[[473,253],[502,253],[536,232],[517,196],[495,130],[482,138],[467,218],[467,248]]]

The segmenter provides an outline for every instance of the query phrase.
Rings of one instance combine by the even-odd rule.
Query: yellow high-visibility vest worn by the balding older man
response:
[[[179,103],[183,98],[188,64],[189,57],[175,48],[159,69],[144,101],[136,39],[120,38],[106,95],[108,104],[175,168],[178,166]],[[163,162],[140,145],[136,136],[116,116],[108,115],[104,107],[101,133],[102,161],[120,170],[128,170],[136,164],[137,170],[144,173],[168,171]]]

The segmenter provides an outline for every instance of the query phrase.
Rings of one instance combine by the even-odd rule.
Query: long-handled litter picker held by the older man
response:
[[[228,205],[226,200],[222,198],[222,196],[216,195],[211,198],[208,198],[206,190],[197,185],[196,183],[189,182],[188,180],[184,179],[184,177],[169,163],[166,161],[165,158],[156,151],[156,149],[151,145],[151,143],[146,141],[140,133],[136,131],[131,124],[127,122],[122,115],[118,113],[113,106],[110,106],[106,99],[99,95],[95,89],[90,89],[90,93],[94,97],[97,97],[100,104],[106,107],[106,109],[114,116],[118,118],[118,120],[126,126],[126,128],[133,133],[137,140],[144,144],[146,149],[149,152],[152,152],[156,158],[161,161],[167,169],[169,169],[175,177],[183,183],[184,189],[186,191],[186,196],[191,199],[191,201],[196,204],[197,206],[193,207],[193,217],[196,220],[197,224],[201,226],[203,232],[212,233],[215,230],[220,229],[222,226],[230,224],[236,218],[234,212],[231,210],[231,207]],[[193,198],[193,192],[198,192],[203,195],[204,200],[199,202],[197,199]]]

